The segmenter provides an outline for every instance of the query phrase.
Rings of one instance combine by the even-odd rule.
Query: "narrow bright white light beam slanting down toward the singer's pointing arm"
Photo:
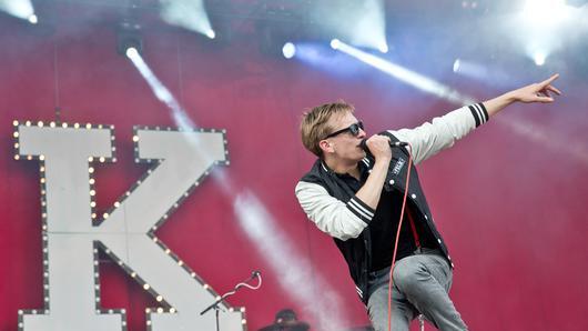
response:
[[[333,47],[333,42],[332,47]],[[352,46],[346,44],[345,42],[339,41],[337,43],[338,51],[342,51],[348,56],[352,56],[356,58],[357,60],[365,62],[378,70],[382,70],[383,72],[395,77],[396,79],[413,86],[424,92],[437,96],[439,98],[443,98],[445,100],[448,100],[450,102],[455,103],[462,103],[462,104],[469,104],[474,103],[475,100],[470,97],[464,96],[459,93],[458,91],[446,87],[428,77],[425,77],[423,74],[416,73],[414,71],[410,71],[406,68],[403,68],[398,64],[388,62],[384,59],[381,59],[378,57],[375,57],[373,54],[366,53],[364,51],[361,51]]]

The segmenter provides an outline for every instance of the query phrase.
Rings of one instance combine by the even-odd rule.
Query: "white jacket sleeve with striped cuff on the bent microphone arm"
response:
[[[321,231],[341,240],[357,238],[374,218],[375,210],[357,197],[344,202],[316,183],[298,182],[296,198]]]

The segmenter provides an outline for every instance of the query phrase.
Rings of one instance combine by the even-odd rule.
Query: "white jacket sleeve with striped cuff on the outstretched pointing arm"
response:
[[[388,132],[410,144],[414,163],[418,164],[454,146],[455,141],[487,121],[488,113],[484,104],[476,103],[434,118],[433,121],[415,129],[389,130]]]

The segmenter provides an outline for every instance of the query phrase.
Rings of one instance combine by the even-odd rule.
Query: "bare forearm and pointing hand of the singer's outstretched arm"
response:
[[[500,112],[500,110],[505,109],[507,106],[514,102],[554,102],[551,92],[558,96],[561,94],[558,89],[551,86],[551,82],[554,82],[558,77],[559,74],[554,74],[550,78],[544,80],[543,82],[534,83],[517,90],[513,90],[510,92],[506,92],[500,97],[484,101],[483,103],[486,107],[486,110],[488,111],[488,116],[491,117],[497,114],[498,112]]]

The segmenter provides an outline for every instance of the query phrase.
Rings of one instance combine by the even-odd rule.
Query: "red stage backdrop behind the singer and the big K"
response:
[[[0,17],[0,330],[16,330],[19,309],[43,305],[38,164],[13,160],[12,121],[57,120],[59,107],[61,121],[115,126],[118,162],[97,168],[99,211],[146,170],[133,161],[132,127],[174,127],[131,62],[116,54],[111,22],[81,21],[47,31]],[[315,277],[306,282],[316,287],[314,295],[323,294],[317,279],[326,280],[342,300],[342,321],[366,324],[343,259],[306,221],[293,194],[313,162],[300,143],[300,116],[343,98],[376,132],[416,126],[457,106],[367,67],[341,76],[267,57],[256,40],[215,47],[173,29],[146,29],[143,36],[145,61],[194,122],[227,130],[232,162],[222,171],[234,197],[257,195],[276,231],[311,263]],[[557,104],[513,107],[419,169],[456,261],[452,297],[472,330],[588,329],[588,120],[581,96],[587,83],[568,73],[560,80],[567,97]],[[499,92],[484,83],[467,88],[479,99]],[[540,143],[544,138],[555,143]],[[284,307],[321,330],[314,307],[301,307],[292,295],[296,289],[281,285],[232,205],[232,197],[209,179],[158,237],[217,292],[254,269],[263,272],[260,291],[229,300],[246,307],[250,330],[272,322]],[[112,263],[103,261],[101,271],[102,305],[125,308],[130,330],[144,330],[143,311],[154,305],[152,299]]]

